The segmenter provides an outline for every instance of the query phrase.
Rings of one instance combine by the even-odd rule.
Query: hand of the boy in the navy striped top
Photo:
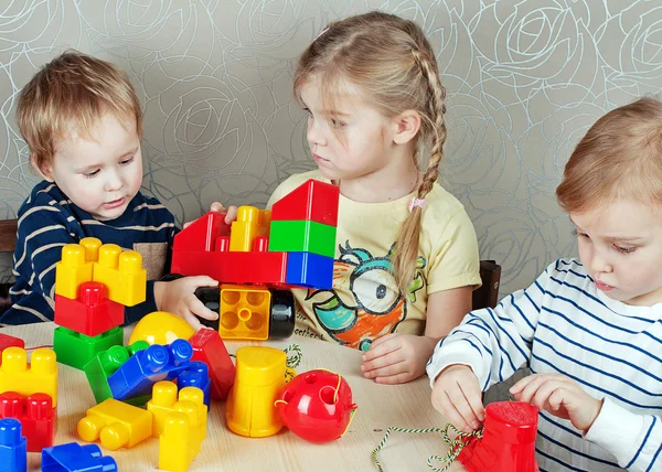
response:
[[[215,320],[218,314],[197,300],[194,292],[199,287],[217,287],[218,282],[207,276],[182,277],[169,282],[154,282],[154,299],[160,311],[183,318],[195,331],[203,328],[195,315]]]

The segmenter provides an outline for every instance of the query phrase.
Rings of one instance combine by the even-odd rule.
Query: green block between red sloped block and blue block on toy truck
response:
[[[335,255],[335,226],[307,221],[275,221],[269,233],[269,250]]]

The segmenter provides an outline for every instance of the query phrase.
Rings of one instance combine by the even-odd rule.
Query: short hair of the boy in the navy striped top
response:
[[[19,130],[30,148],[32,164],[42,172],[52,164],[57,140],[72,131],[90,139],[107,111],[136,120],[142,138],[140,100],[127,75],[115,65],[66,51],[46,64],[19,97]]]

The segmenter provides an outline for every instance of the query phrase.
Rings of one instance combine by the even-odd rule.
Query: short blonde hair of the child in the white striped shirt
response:
[[[570,155],[556,196],[567,213],[622,197],[662,212],[662,101],[641,98],[596,121]]]

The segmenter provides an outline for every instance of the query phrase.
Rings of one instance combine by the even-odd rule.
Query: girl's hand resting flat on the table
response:
[[[425,374],[437,342],[414,334],[386,334],[363,354],[361,371],[377,384],[404,384]]]

